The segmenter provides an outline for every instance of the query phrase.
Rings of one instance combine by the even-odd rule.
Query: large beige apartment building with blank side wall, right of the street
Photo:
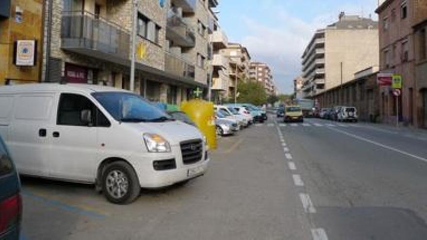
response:
[[[352,80],[354,73],[378,65],[378,22],[341,13],[317,30],[302,55],[304,97]]]

